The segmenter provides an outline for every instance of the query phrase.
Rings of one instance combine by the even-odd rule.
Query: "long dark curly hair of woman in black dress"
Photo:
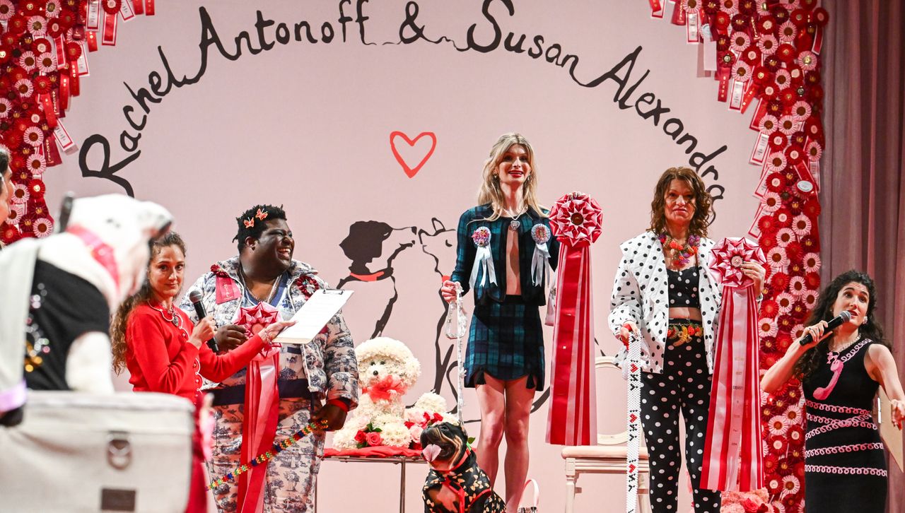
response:
[[[811,315],[805,322],[805,326],[812,326],[822,320],[829,322],[830,319],[833,318],[833,305],[836,302],[836,298],[839,297],[839,291],[843,290],[845,285],[852,282],[861,283],[864,287],[867,287],[868,295],[867,321],[858,328],[858,335],[864,338],[870,338],[874,342],[879,342],[883,346],[891,349],[890,343],[883,337],[883,326],[877,318],[877,315],[874,313],[874,310],[877,308],[877,285],[866,272],[853,269],[836,276],[826,289],[820,293],[820,297],[817,298],[817,302],[814,304],[814,309],[811,310]],[[817,370],[817,367],[820,366],[821,362],[826,361],[826,356],[830,350],[831,340],[833,340],[833,335],[824,338],[818,342],[816,346],[811,347],[805,351],[804,355],[798,358],[798,361],[795,362],[794,370],[796,377],[807,379],[815,370]]]

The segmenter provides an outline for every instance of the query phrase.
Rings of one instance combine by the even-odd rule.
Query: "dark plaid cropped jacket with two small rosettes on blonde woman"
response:
[[[469,278],[472,275],[472,266],[474,265],[474,257],[477,248],[472,241],[472,233],[481,226],[486,226],[491,230],[491,255],[493,257],[493,267],[496,271],[497,283],[492,284],[490,280],[483,286],[480,280],[474,286],[474,302],[475,304],[486,304],[489,300],[502,302],[506,295],[506,260],[504,253],[506,252],[507,238],[513,232],[509,229],[510,218],[500,217],[496,221],[487,221],[487,218],[493,214],[490,204],[482,204],[465,211],[459,217],[459,228],[457,229],[458,246],[456,249],[455,271],[452,272],[452,281],[458,281],[462,285],[462,292],[468,292]],[[547,212],[544,212],[547,214]],[[529,305],[542,306],[547,304],[544,294],[544,286],[536,286],[531,282],[531,257],[534,255],[536,246],[534,239],[531,237],[531,228],[535,224],[545,224],[550,227],[550,221],[547,217],[534,212],[532,209],[519,217],[521,224],[519,225],[519,278],[521,280],[521,297]],[[550,238],[547,243],[550,252],[549,263],[553,270],[557,268],[559,258],[559,242],[555,238]],[[547,276],[547,270],[544,270],[544,283],[550,277]]]

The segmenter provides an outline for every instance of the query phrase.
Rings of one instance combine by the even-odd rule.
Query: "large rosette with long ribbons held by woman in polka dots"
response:
[[[767,259],[756,243],[735,237],[720,241],[710,255],[710,271],[722,283],[723,295],[700,488],[759,489],[764,486],[764,465],[757,290],[741,265],[764,265]]]

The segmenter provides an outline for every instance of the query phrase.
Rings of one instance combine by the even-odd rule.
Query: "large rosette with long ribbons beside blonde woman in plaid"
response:
[[[600,236],[602,221],[600,205],[582,193],[565,195],[550,209],[560,249],[548,443],[596,443],[590,246]]]

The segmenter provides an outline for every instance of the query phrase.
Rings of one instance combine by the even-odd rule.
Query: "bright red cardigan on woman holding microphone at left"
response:
[[[163,392],[195,401],[201,376],[220,382],[235,374],[265,346],[255,335],[225,355],[215,355],[210,347],[197,348],[188,343],[195,326],[181,309],[173,309],[181,318],[177,328],[165,320],[159,310],[142,302],[129,314],[126,327],[126,368],[136,392]],[[169,313],[164,314],[169,316]]]

